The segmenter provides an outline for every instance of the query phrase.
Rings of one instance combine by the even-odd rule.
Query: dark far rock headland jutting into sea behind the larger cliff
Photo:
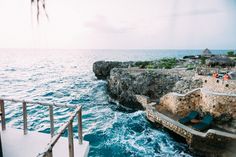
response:
[[[112,61],[97,61],[93,64],[93,72],[98,79],[106,79],[110,76],[110,71],[113,68],[128,68],[133,62],[112,62]]]

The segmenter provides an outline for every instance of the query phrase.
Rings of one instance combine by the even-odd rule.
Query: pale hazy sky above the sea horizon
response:
[[[235,49],[235,0],[0,0],[0,48]]]

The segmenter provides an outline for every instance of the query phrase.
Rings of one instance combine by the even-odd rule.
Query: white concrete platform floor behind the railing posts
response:
[[[49,134],[29,131],[27,135],[23,130],[6,128],[1,131],[3,147],[3,157],[36,157],[44,151],[51,137]],[[83,141],[82,145],[74,139],[75,157],[87,157],[89,152],[89,142]],[[53,148],[54,157],[67,157],[68,138],[61,137]]]

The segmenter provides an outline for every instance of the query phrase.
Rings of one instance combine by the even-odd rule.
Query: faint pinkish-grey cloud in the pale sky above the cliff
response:
[[[94,19],[85,22],[86,28],[91,28],[102,33],[126,33],[133,30],[133,27],[125,23],[111,23],[105,16],[97,15]]]

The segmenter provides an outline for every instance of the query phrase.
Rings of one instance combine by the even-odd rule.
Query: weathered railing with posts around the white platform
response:
[[[28,133],[27,129],[27,104],[34,104],[34,105],[42,105],[49,107],[49,118],[50,118],[50,134],[51,134],[51,141],[46,146],[45,150],[38,154],[37,157],[52,157],[53,156],[53,147],[63,135],[63,133],[68,128],[68,148],[69,148],[69,157],[74,157],[74,136],[73,136],[73,121],[75,117],[78,117],[78,142],[82,144],[83,142],[83,135],[82,135],[82,108],[81,106],[76,105],[65,105],[65,104],[55,104],[55,103],[45,103],[45,102],[36,102],[36,101],[25,101],[25,100],[16,100],[16,99],[4,99],[0,98],[0,109],[1,109],[1,125],[2,130],[6,130],[6,119],[5,119],[5,105],[4,102],[15,102],[15,103],[22,103],[22,112],[23,112],[23,131],[24,135]],[[75,112],[71,114],[69,120],[63,124],[59,129],[58,133],[54,134],[54,116],[53,116],[53,107],[67,107],[67,108],[74,108]]]

